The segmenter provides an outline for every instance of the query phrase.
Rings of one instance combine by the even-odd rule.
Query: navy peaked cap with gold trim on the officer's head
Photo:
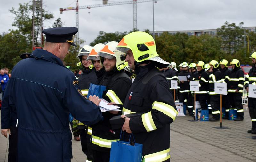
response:
[[[55,27],[42,30],[42,33],[46,35],[46,42],[51,43],[70,43],[76,47],[73,42],[73,35],[78,32],[76,27]]]

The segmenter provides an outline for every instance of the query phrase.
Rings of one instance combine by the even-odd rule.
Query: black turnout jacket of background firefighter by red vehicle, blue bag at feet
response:
[[[235,67],[235,69],[232,69],[230,73],[229,78],[229,84],[228,84],[228,92],[234,93],[236,92],[236,89],[239,93],[243,93],[243,87],[244,87],[244,72],[240,67]]]

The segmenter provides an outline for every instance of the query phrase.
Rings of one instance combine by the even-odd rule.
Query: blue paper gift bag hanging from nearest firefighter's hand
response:
[[[122,135],[122,132],[121,132]],[[120,135],[120,139],[121,139]],[[133,134],[131,134],[133,136]],[[134,143],[131,145],[129,141],[111,142],[110,162],[141,162],[142,159],[142,144]]]

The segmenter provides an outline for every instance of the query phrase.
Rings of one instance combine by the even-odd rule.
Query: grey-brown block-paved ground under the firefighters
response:
[[[244,121],[191,122],[192,117],[177,117],[171,124],[171,161],[173,162],[256,162],[256,135],[251,128],[249,112],[244,109]],[[254,139],[253,139],[254,138]],[[8,139],[0,136],[0,162],[8,161]],[[72,162],[85,162],[80,142],[72,143]]]

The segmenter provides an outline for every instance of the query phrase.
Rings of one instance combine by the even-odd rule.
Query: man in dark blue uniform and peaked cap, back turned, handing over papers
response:
[[[17,111],[18,161],[70,162],[69,113],[84,124],[102,120],[96,105],[100,100],[96,96],[90,97],[92,101],[86,99],[74,74],[62,63],[70,45],[76,46],[72,37],[77,31],[75,27],[44,29],[44,49],[33,51],[12,70],[1,124],[7,137],[10,126],[16,125]]]

